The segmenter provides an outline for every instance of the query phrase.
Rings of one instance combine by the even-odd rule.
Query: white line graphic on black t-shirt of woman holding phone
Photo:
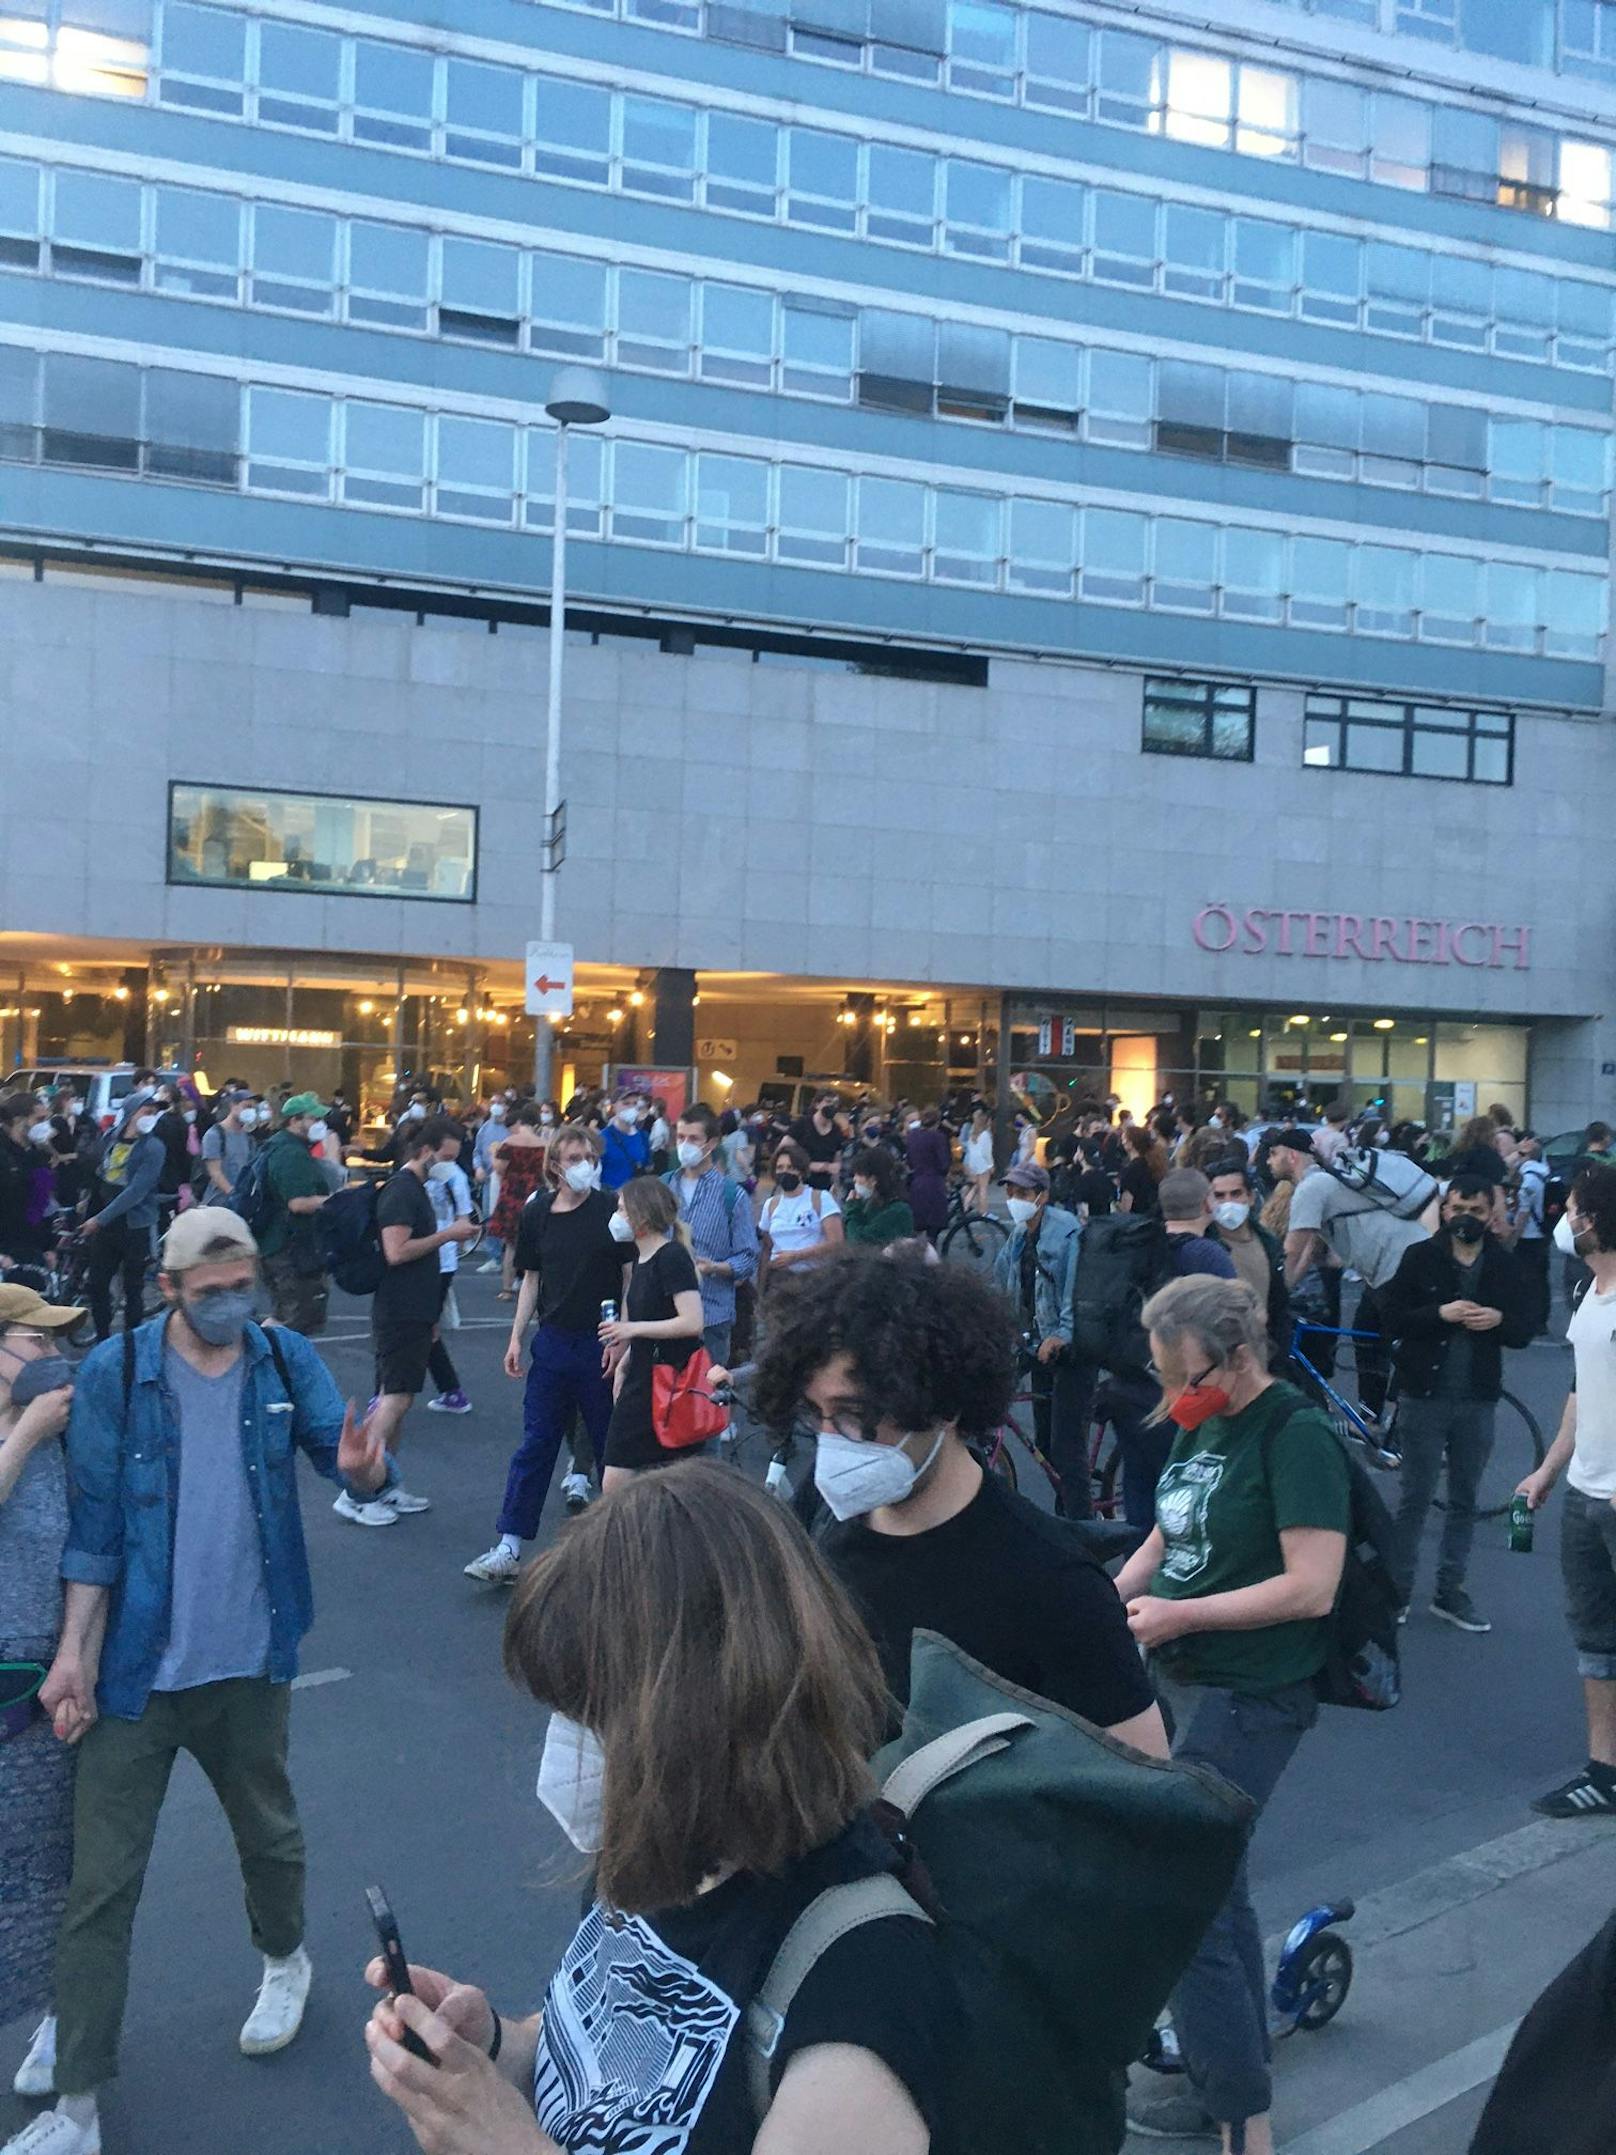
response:
[[[539,2123],[565,2149],[683,2155],[737,2011],[638,1916],[593,1907],[545,1996]]]

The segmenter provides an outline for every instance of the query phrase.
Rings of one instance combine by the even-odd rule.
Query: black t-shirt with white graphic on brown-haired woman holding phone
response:
[[[534,2110],[565,2149],[737,2155],[756,2138],[746,2006],[802,1909],[827,1886],[892,1868],[855,1819],[782,1879],[739,1873],[689,1907],[612,1918],[593,1907],[545,1996]],[[937,1933],[909,1916],[849,1931],[797,1991],[769,2077],[802,2049],[851,2043],[903,2082],[948,2155],[950,2060],[963,2015]]]

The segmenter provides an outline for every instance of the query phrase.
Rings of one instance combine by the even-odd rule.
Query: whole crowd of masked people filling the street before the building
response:
[[[946,1907],[875,1806],[918,1633],[1129,1758],[1211,1769],[1256,1823],[1332,1696],[1355,1524],[1349,1455],[1295,1381],[1293,1315],[1336,1325],[1351,1308],[1373,1418],[1396,1381],[1401,1618],[1446,1476],[1431,1610],[1485,1633],[1467,1588],[1478,1485],[1502,1358],[1549,1319],[1551,1243],[1577,1381],[1519,1496],[1536,1511],[1569,1480],[1588,1761],[1536,1808],[1616,1812],[1603,1125],[1562,1192],[1502,1108],[1441,1146],[1345,1106],[1254,1127],[1230,1103],[1133,1121],[1082,1101],[1043,1129],[1019,1110],[995,1159],[980,1099],[827,1088],[786,1121],[670,1114],[636,1090],[463,1108],[420,1086],[366,1149],[388,1170],[366,1192],[345,1187],[343,1101],[293,1093],[261,1125],[263,1106],[233,1084],[192,1103],[138,1073],[114,1127],[80,1136],[67,1101],[0,1099],[0,2021],[41,2015],[15,2086],[54,2097],[9,2155],[99,2155],[181,1750],[228,1817],[263,1957],[241,2052],[297,2036],[312,1968],[287,1730],[312,1582],[295,1459],[338,1485],[349,1524],[429,1508],[399,1457],[429,1384],[440,1412],[470,1407],[444,1317],[478,1213],[524,1392],[493,1543],[463,1569],[513,1588],[506,1668],[549,1713],[539,1795],[595,1892],[543,2011],[506,2017],[424,1968],[394,1996],[368,1970],[371,2073],[429,2155],[998,2155],[967,2146],[950,2093],[965,2000]],[[955,1177],[978,1213],[1002,1187],[991,1276],[937,1256]],[[371,1265],[362,1412],[312,1343],[328,1269],[343,1278],[338,1215],[360,1220]],[[80,1364],[62,1343],[84,1310],[41,1291],[60,1218],[90,1248],[99,1345]],[[698,1403],[741,1362],[756,1422],[810,1440],[789,1504],[700,1457]],[[1056,1513],[987,1465],[1023,1379]],[[1101,1407],[1131,1530],[1110,1569],[1082,1526]],[[534,1554],[565,1446],[580,1517]],[[860,1920],[761,2011],[797,1920],[849,1886],[870,1890]],[[1183,2090],[1146,2075],[1127,2121],[1269,2155],[1245,1858],[1220,1896],[1170,1998]],[[1120,2144],[1129,2062],[1086,2056],[1095,2116],[1075,2146]],[[1000,2144],[1017,2144],[1013,2105]]]

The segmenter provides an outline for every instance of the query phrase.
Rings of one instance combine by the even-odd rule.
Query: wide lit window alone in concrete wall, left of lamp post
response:
[[[476,808],[170,784],[168,881],[476,899]]]

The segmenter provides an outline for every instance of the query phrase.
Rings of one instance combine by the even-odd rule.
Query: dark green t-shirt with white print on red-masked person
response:
[[[1198,1601],[1258,1586],[1284,1571],[1284,1528],[1349,1532],[1347,1455],[1319,1407],[1295,1386],[1271,1384],[1241,1414],[1179,1431],[1155,1517],[1168,1547],[1151,1593]],[[1161,1649],[1161,1668],[1179,1683],[1273,1692],[1323,1668],[1327,1633],[1323,1616],[1260,1631],[1192,1631]]]

